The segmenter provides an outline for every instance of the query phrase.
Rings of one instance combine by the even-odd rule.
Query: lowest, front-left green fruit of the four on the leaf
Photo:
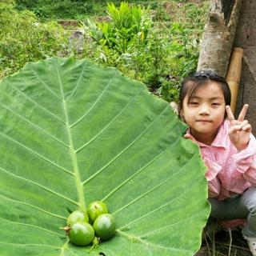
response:
[[[70,226],[70,242],[76,246],[87,246],[94,240],[94,229],[87,222],[77,222]]]

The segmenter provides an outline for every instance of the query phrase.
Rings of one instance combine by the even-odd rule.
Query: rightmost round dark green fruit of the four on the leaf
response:
[[[102,214],[94,221],[95,234],[104,240],[112,238],[115,234],[115,220],[112,214]]]

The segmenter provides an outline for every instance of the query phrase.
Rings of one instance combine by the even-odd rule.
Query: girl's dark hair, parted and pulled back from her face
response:
[[[197,73],[190,75],[182,81],[182,86],[179,92],[179,106],[178,106],[178,117],[181,118],[182,102],[186,95],[188,95],[188,102],[190,98],[194,95],[195,91],[210,81],[218,82],[221,86],[222,92],[224,94],[225,104],[230,106],[231,102],[231,92],[230,86],[227,84],[226,79],[222,78],[218,74],[211,70],[200,70]],[[226,118],[226,112],[225,112]]]

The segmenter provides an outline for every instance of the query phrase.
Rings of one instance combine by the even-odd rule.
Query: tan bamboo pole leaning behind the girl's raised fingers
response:
[[[234,47],[233,53],[230,58],[229,69],[226,74],[226,82],[230,86],[231,90],[231,110],[234,113],[235,106],[238,98],[238,88],[241,79],[242,71],[242,48]]]

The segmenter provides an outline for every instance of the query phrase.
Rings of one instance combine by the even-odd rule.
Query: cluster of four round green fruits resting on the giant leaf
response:
[[[115,234],[115,220],[109,214],[106,204],[91,202],[86,211],[75,210],[66,220],[66,234],[76,246],[106,241]]]

